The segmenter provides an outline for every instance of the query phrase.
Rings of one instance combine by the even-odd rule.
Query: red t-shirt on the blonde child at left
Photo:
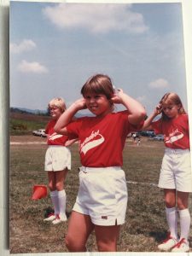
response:
[[[45,133],[48,134],[47,143],[48,145],[64,146],[68,140],[68,137],[65,135],[56,133],[54,130],[55,124],[56,124],[56,120],[51,119],[45,128]]]

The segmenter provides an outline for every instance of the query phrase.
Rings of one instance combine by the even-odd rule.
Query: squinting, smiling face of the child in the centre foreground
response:
[[[104,94],[88,93],[84,95],[85,103],[91,113],[103,117],[112,112],[112,106]]]

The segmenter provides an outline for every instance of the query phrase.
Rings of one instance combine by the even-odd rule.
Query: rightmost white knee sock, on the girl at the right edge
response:
[[[189,238],[189,230],[190,230],[190,213],[189,209],[179,210],[180,217],[180,228],[181,228],[181,236],[180,238],[185,238],[188,241]]]

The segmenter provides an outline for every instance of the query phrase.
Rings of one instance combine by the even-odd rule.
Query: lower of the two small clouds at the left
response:
[[[38,62],[21,61],[18,70],[22,73],[48,73],[48,69]]]

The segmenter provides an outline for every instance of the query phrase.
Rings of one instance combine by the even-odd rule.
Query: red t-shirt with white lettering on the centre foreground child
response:
[[[141,125],[131,125],[128,112],[108,113],[104,118],[83,117],[67,125],[70,136],[79,137],[81,163],[87,167],[122,166],[125,139]]]

